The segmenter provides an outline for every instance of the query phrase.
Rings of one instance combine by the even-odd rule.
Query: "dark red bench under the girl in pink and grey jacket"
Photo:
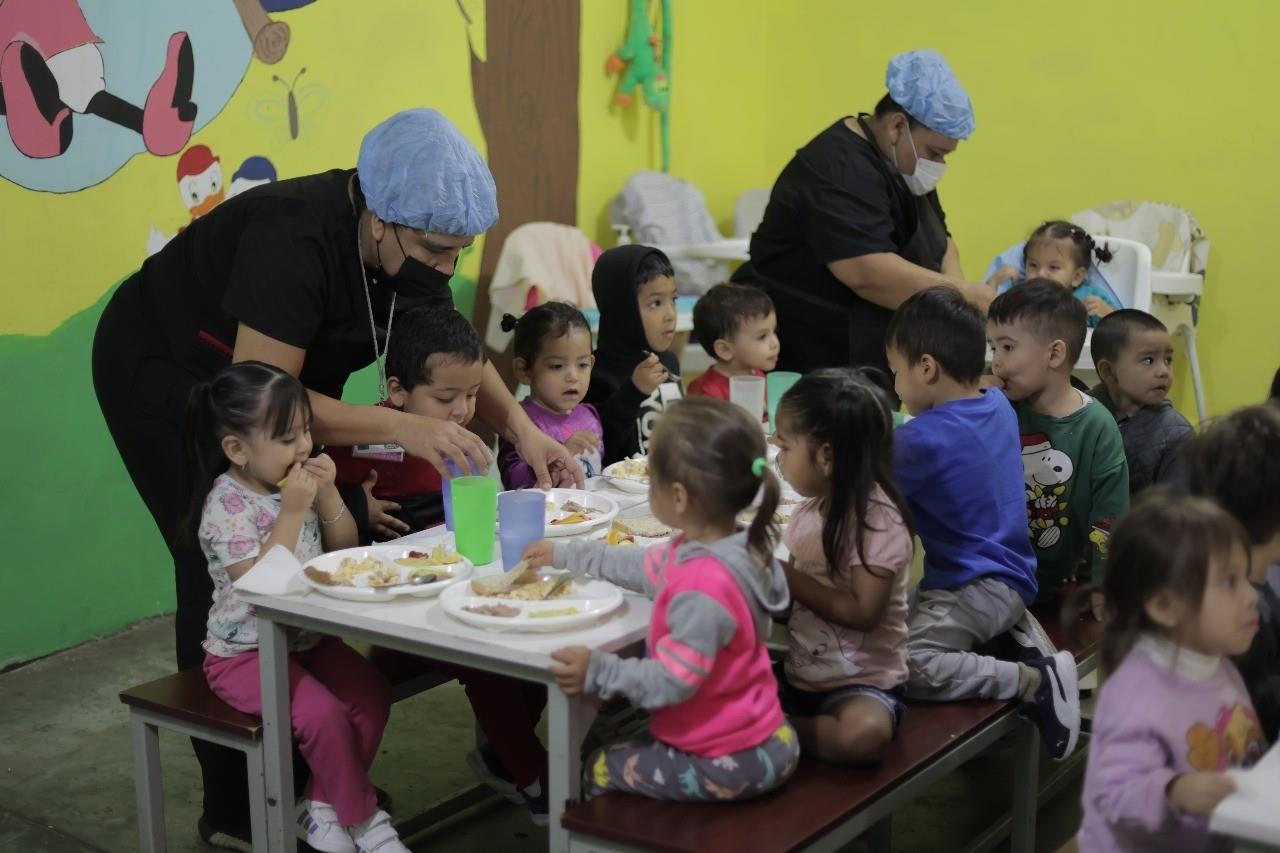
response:
[[[1069,642],[1056,613],[1037,611],[1050,639],[1076,656],[1082,674],[1096,666],[1100,626],[1083,620]],[[562,824],[570,850],[833,850],[888,818],[960,765],[1012,736],[1012,813],[983,834],[978,849],[1011,836],[1015,852],[1036,843],[1039,734],[1018,716],[1016,703],[997,701],[909,702],[902,727],[884,761],[870,768],[801,758],[787,784],[744,803],[669,803],[605,794],[568,808]],[[1084,744],[1073,756],[1083,763]],[[1071,760],[1069,760],[1071,761]],[[1064,762],[1065,763],[1065,762]],[[1065,772],[1070,771],[1064,771]],[[959,848],[960,844],[956,844]]]

